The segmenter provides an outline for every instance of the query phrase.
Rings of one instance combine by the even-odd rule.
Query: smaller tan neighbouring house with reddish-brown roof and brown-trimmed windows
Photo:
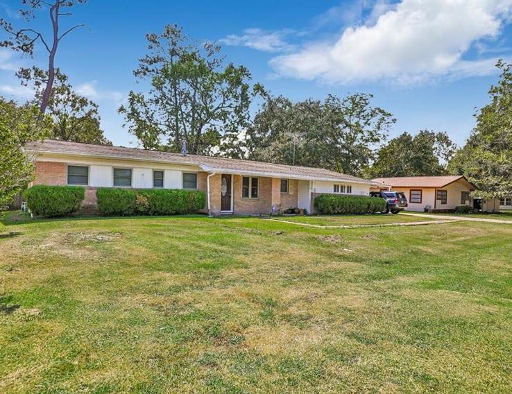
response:
[[[472,197],[478,188],[462,175],[449,176],[410,176],[395,178],[375,178],[387,186],[381,189],[401,191],[407,197],[407,210],[423,212],[450,212],[459,205],[469,205],[485,212],[499,212],[500,200],[479,200]]]

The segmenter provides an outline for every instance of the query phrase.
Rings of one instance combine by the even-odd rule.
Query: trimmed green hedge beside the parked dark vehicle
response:
[[[373,214],[386,212],[384,198],[322,194],[314,201],[319,214]]]

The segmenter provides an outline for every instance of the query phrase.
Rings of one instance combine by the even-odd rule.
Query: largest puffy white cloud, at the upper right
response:
[[[388,80],[418,83],[438,76],[492,72],[495,59],[463,60],[479,40],[496,38],[512,0],[403,0],[373,3],[361,26],[334,42],[310,42],[270,62],[282,76],[325,83]]]

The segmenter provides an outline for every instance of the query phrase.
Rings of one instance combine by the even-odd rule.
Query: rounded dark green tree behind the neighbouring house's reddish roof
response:
[[[414,136],[404,132],[379,148],[377,159],[364,173],[369,178],[445,175],[455,150],[446,132],[421,130]]]

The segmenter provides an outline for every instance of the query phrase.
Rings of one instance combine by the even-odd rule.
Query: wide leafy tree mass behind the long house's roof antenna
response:
[[[248,128],[248,155],[360,175],[395,122],[389,112],[371,105],[372,98],[330,95],[325,101],[292,103],[282,96],[267,96]]]

